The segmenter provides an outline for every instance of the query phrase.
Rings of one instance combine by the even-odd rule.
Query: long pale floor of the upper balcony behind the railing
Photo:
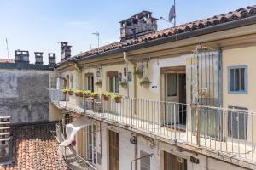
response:
[[[114,124],[123,125],[126,127],[132,127],[133,130],[137,130],[141,133],[147,133],[151,136],[157,136],[161,139],[166,139],[170,141],[172,144],[188,144],[191,146],[195,146],[200,149],[211,150],[212,153],[216,155],[224,155],[230,158],[236,158],[239,160],[246,160],[250,162],[255,161],[255,150],[253,144],[245,143],[244,140],[234,141],[219,141],[216,139],[210,139],[203,135],[200,138],[200,146],[196,145],[196,136],[195,134],[189,132],[188,126],[185,131],[179,130],[170,126],[163,127],[157,123],[146,122],[143,120],[131,118],[129,116],[119,116],[117,114],[111,114],[108,112],[97,112],[92,110],[86,110],[79,105],[73,105],[66,101],[54,101],[53,102],[58,108],[65,109],[67,111],[73,111],[75,113],[79,113],[84,116],[90,116],[92,118],[113,122]]]

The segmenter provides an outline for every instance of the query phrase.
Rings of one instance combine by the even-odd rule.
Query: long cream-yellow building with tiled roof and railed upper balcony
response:
[[[143,11],[121,30],[147,22],[149,33],[63,50],[49,90],[60,149],[72,145],[91,169],[255,169],[255,14],[152,31]]]

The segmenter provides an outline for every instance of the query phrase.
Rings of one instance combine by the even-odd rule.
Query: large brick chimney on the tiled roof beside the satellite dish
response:
[[[129,19],[120,21],[121,41],[157,31],[157,20],[152,17],[151,12],[143,11],[131,16]]]

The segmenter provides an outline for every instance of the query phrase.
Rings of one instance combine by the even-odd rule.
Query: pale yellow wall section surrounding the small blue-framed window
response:
[[[246,107],[249,110],[256,110],[256,46],[248,48],[224,49],[223,51],[223,105]],[[228,93],[228,67],[237,65],[247,65],[247,94]],[[227,118],[227,113],[224,113]],[[252,128],[256,128],[256,116],[247,117],[247,140],[252,139]],[[253,125],[252,125],[253,121]],[[226,120],[224,119],[224,123]],[[227,125],[227,124],[226,124]],[[227,127],[224,127],[226,129]],[[256,136],[253,136],[255,141]]]

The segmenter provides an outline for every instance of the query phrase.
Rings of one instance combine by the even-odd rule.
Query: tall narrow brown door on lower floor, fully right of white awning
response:
[[[119,170],[119,133],[109,130],[109,170]]]

